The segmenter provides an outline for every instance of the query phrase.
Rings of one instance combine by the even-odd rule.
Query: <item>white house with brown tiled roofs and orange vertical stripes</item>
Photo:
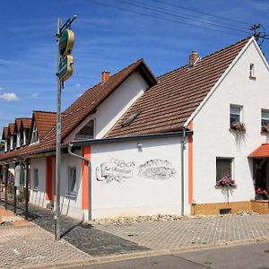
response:
[[[62,213],[88,220],[252,209],[256,189],[269,191],[268,84],[254,37],[209,56],[193,51],[158,78],[143,59],[102,73],[61,116]],[[41,118],[33,113],[29,145],[0,161],[30,160],[30,202],[53,207],[56,114]]]

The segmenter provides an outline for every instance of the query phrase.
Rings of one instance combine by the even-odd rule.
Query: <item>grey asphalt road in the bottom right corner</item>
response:
[[[99,265],[72,267],[75,269],[269,269],[269,242],[218,247],[166,256],[135,258]]]

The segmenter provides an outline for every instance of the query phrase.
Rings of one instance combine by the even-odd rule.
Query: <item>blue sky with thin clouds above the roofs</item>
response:
[[[64,110],[103,71],[115,74],[143,58],[158,76],[186,65],[194,49],[206,56],[244,39],[253,23],[269,34],[268,13],[267,0],[2,0],[0,128],[32,110],[56,111],[59,17],[77,15]],[[269,39],[261,48],[268,58]]]

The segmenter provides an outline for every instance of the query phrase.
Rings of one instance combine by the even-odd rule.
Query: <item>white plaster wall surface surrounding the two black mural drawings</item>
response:
[[[142,151],[137,143],[107,143],[91,146],[91,208],[93,219],[157,213],[181,213],[180,138],[143,140]],[[98,181],[96,169],[100,164],[116,158],[134,161],[133,178],[119,183]],[[138,176],[139,165],[152,159],[169,161],[178,174],[176,178],[151,179]],[[186,188],[187,193],[187,188]],[[186,212],[189,208],[186,205]]]

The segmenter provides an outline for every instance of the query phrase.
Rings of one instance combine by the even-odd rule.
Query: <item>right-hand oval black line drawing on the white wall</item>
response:
[[[176,178],[178,174],[169,161],[161,159],[146,161],[137,169],[139,170],[138,176],[143,178],[169,179]]]

